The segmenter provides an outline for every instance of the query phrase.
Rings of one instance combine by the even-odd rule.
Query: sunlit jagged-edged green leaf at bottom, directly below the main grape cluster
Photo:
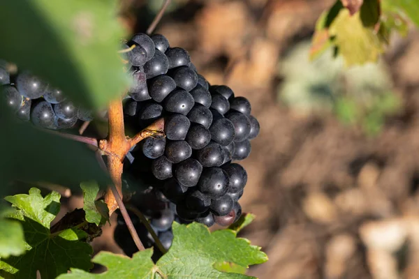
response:
[[[137,252],[133,258],[100,252],[93,262],[108,267],[102,274],[91,274],[78,269],[71,269],[70,274],[63,274],[58,279],[94,279],[94,278],[251,278],[240,273],[226,273],[216,268],[224,262],[232,263],[234,271],[247,269],[249,265],[267,261],[267,256],[260,248],[251,246],[246,239],[237,239],[230,229],[210,232],[198,223],[179,225],[173,223],[174,239],[168,252],[153,264],[150,259],[152,250]],[[232,266],[233,266],[232,265]],[[230,269],[229,272],[233,272]]]

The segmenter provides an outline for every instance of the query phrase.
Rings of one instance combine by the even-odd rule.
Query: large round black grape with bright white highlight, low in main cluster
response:
[[[223,169],[208,167],[200,176],[198,190],[212,199],[218,199],[226,195],[228,183],[228,176]]]

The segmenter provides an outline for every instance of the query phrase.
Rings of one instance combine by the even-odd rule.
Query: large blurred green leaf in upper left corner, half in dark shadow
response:
[[[103,107],[128,85],[117,55],[124,29],[115,5],[110,0],[3,1],[0,25],[8,28],[0,29],[0,57],[84,107]]]

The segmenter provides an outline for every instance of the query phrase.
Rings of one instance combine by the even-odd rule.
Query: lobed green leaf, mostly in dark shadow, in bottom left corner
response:
[[[31,188],[29,195],[8,196],[6,201],[16,209],[8,218],[18,220],[24,230],[26,252],[24,255],[0,259],[0,276],[3,278],[36,279],[36,271],[42,278],[56,278],[70,267],[89,270],[93,266],[91,246],[83,239],[87,234],[71,228],[52,234],[50,223],[60,208],[59,193],[42,197],[41,190]]]

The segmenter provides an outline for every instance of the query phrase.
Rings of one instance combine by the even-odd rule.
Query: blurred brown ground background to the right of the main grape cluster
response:
[[[122,0],[121,19],[145,32],[162,3]],[[240,236],[270,260],[249,275],[419,278],[419,31],[391,36],[378,63],[347,68],[332,50],[311,62],[316,20],[334,3],[173,0],[155,33],[260,121],[242,162],[241,204],[257,218]],[[96,252],[122,252],[112,229]]]

